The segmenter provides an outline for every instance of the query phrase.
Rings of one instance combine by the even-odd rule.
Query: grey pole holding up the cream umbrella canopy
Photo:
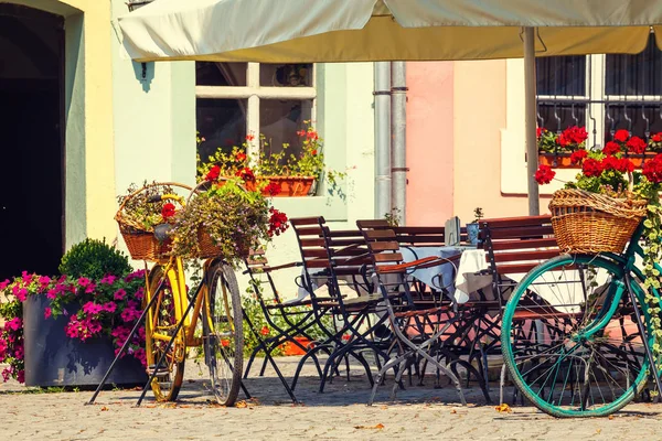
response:
[[[528,215],[541,214],[538,185],[534,174],[537,170],[536,142],[536,83],[535,83],[535,32],[534,28],[524,28],[524,111],[526,140],[526,174],[528,182]]]

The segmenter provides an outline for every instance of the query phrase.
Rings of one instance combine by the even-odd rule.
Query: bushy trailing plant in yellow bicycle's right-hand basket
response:
[[[252,175],[207,175],[171,220],[172,254],[183,258],[223,257],[235,262],[288,228],[285,213],[245,184]]]

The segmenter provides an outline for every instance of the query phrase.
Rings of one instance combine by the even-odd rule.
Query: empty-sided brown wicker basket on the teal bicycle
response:
[[[622,252],[647,215],[644,200],[615,198],[578,189],[554,193],[552,227],[564,252]]]

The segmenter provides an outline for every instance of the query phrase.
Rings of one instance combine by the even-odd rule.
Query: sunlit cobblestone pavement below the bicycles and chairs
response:
[[[297,358],[278,359],[287,375]],[[194,364],[177,404],[157,404],[148,395],[140,408],[136,390],[107,390],[93,406],[90,391],[43,392],[17,383],[0,385],[0,435],[7,440],[661,440],[662,405],[633,404],[612,418],[557,420],[531,407],[499,412],[485,405],[480,390],[467,390],[459,405],[452,386],[407,386],[397,400],[388,395],[393,381],[380,388],[367,407],[370,387],[359,367],[351,380],[337,377],[324,394],[312,367],[297,386],[302,402],[292,406],[275,374],[252,377],[246,386],[254,400],[241,408],[214,405],[206,378]],[[498,385],[491,386],[498,400]],[[509,390],[509,396],[512,391]]]

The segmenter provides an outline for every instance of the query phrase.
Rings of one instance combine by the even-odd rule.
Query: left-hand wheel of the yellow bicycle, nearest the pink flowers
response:
[[[168,342],[174,334],[178,316],[170,281],[163,273],[163,267],[157,265],[149,272],[149,292],[145,295],[146,305],[151,297],[157,297],[145,323],[145,351],[148,372],[153,372]],[[180,331],[166,355],[164,366],[160,366],[152,380],[151,388],[158,401],[174,401],[179,395],[184,377],[186,348],[183,332]]]

